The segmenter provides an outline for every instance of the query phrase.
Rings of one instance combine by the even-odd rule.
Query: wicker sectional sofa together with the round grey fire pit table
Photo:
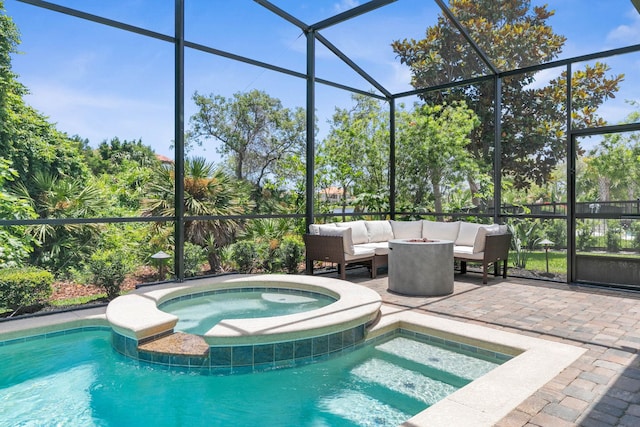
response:
[[[482,264],[484,284],[491,264],[495,276],[502,264],[506,278],[511,234],[499,224],[357,220],[311,224],[304,241],[307,274],[313,274],[314,261],[337,264],[343,280],[349,264],[367,265],[372,278],[379,267],[388,266],[390,290],[435,295],[453,291],[454,260],[461,273],[467,272],[468,262]],[[425,289],[426,280],[430,289]]]

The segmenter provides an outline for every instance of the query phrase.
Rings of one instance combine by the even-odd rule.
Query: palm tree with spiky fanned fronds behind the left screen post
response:
[[[205,158],[187,158],[184,168],[185,216],[242,215],[253,207],[247,189]],[[174,216],[173,164],[156,169],[147,194],[143,202],[145,215]],[[209,265],[215,271],[220,266],[219,249],[233,241],[240,226],[235,219],[188,220],[185,221],[185,241],[208,247]]]

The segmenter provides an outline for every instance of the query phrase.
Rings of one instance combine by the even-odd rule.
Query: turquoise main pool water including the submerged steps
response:
[[[499,364],[395,334],[325,362],[203,376],[125,358],[110,337],[0,345],[0,425],[397,426]]]

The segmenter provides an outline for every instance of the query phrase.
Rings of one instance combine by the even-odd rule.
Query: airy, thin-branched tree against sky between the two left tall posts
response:
[[[218,152],[232,164],[235,178],[247,180],[256,195],[270,176],[279,176],[289,157],[304,157],[304,110],[290,110],[262,91],[235,93],[232,98],[201,95],[193,100],[199,111],[190,118],[190,143],[221,142]]]

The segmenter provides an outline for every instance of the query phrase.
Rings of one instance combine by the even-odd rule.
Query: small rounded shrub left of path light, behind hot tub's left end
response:
[[[124,252],[115,250],[94,252],[88,267],[93,283],[105,290],[109,300],[120,295],[122,282],[132,270],[130,258]]]

